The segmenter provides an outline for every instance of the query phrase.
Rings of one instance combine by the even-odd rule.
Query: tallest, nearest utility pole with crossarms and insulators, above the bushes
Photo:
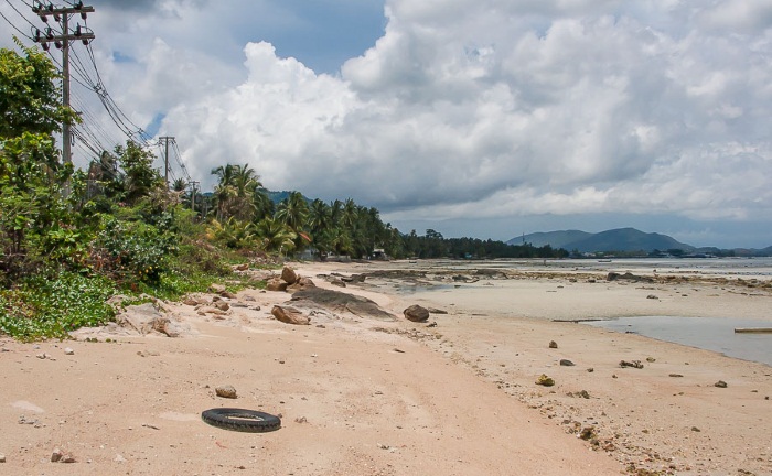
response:
[[[85,21],[88,13],[94,13],[94,7],[86,7],[83,1],[69,7],[54,7],[51,2],[44,6],[42,2],[36,2],[32,7],[32,11],[40,17],[43,22],[49,22],[49,17],[53,17],[54,21],[60,24],[61,33],[54,32],[51,26],[46,26],[44,31],[35,30],[34,41],[43,46],[43,50],[49,51],[49,43],[62,50],[62,104],[69,107],[69,42],[82,41],[87,45],[89,40],[94,40],[94,32],[78,23],[75,30],[69,28],[69,18],[74,14],[79,14]],[[64,163],[73,163],[71,152],[72,138],[69,125],[62,125],[62,159]]]

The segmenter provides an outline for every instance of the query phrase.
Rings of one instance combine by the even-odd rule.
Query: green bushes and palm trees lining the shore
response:
[[[237,282],[232,264],[312,252],[368,258],[557,257],[549,247],[401,235],[378,210],[290,192],[275,204],[248,164],[212,171],[214,193],[191,196],[128,141],[87,171],[65,164],[54,133],[77,116],[60,104],[58,75],[33,48],[0,50],[0,334],[66,338],[109,322],[107,300],[178,299],[214,281]],[[278,258],[277,258],[278,261]],[[237,290],[243,284],[229,284]]]

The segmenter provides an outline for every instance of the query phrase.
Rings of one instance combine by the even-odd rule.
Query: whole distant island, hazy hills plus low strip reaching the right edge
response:
[[[530,244],[535,247],[562,248],[571,253],[619,253],[691,257],[765,257],[772,256],[772,246],[763,249],[697,248],[667,235],[644,232],[635,228],[616,228],[597,234],[581,230],[534,232],[512,238],[507,245]]]

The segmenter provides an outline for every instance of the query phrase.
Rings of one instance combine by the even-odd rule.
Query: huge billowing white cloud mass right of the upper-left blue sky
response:
[[[770,216],[769,36],[717,37],[700,14],[673,34],[674,9],[390,1],[341,77],[249,44],[242,85],[164,127],[196,132],[199,173],[248,161],[270,187],[389,216]]]

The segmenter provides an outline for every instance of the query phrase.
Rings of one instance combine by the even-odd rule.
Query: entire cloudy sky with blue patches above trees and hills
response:
[[[0,12],[29,34],[31,2]],[[269,190],[351,197],[403,232],[772,245],[770,1],[85,4],[101,84],[175,138],[204,190],[213,167],[249,164]],[[0,46],[13,34],[0,19]],[[126,140],[77,95],[85,127]]]

